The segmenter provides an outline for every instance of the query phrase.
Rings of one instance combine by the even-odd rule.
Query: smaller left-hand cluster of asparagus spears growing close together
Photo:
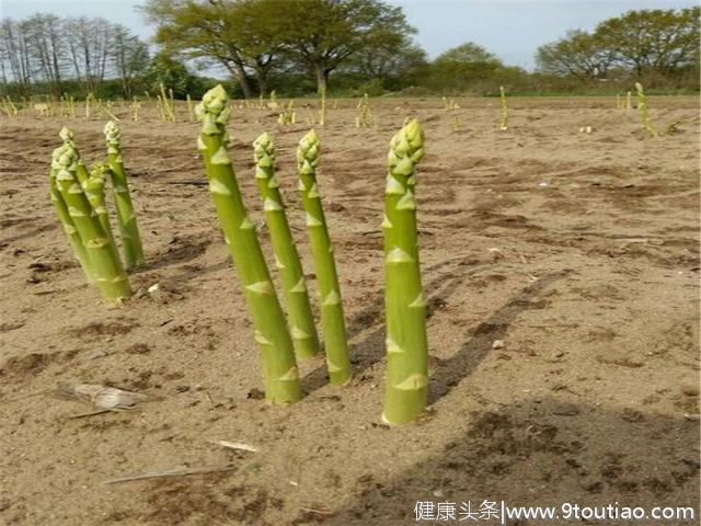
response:
[[[119,129],[108,122],[104,134],[106,162],[95,163],[88,170],[78,151],[74,134],[64,128],[59,134],[64,145],[54,150],[51,158],[49,186],[58,219],[85,277],[97,285],[106,300],[120,301],[131,296],[126,271],[142,265],[145,259],[122,161]],[[112,182],[124,264],[105,204],[107,179]]]

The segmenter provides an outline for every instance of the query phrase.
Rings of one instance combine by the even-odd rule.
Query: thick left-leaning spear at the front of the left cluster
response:
[[[83,242],[89,275],[95,279],[105,299],[119,301],[131,296],[129,282],[122,262],[114,256],[116,251],[112,248],[110,237],[80,185],[77,173],[79,162],[77,150],[70,144],[65,144],[54,150],[51,176]]]

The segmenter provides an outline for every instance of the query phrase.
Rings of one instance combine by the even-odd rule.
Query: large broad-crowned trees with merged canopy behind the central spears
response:
[[[387,55],[415,33],[401,8],[380,0],[147,0],[140,8],[171,53],[223,66],[252,95],[275,69],[311,72],[318,90],[359,52]]]

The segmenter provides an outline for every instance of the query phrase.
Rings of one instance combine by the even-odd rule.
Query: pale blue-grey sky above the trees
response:
[[[598,22],[631,9],[679,9],[697,0],[387,0],[401,5],[418,30],[415,39],[432,58],[467,41],[506,64],[533,67],[538,46],[568,30],[591,30]],[[2,16],[23,19],[36,12],[66,16],[104,16],[148,38],[135,7],[141,0],[0,0]]]

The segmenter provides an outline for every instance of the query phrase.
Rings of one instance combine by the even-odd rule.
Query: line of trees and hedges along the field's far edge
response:
[[[215,81],[197,72],[216,69],[243,98],[566,92],[632,80],[699,89],[698,7],[630,11],[591,33],[572,31],[538,48],[533,72],[472,42],[429,60],[402,8],[381,0],[146,0],[138,10],[154,27],[151,46],[102,18],[3,19],[2,92],[130,98],[162,82],[199,96]]]

